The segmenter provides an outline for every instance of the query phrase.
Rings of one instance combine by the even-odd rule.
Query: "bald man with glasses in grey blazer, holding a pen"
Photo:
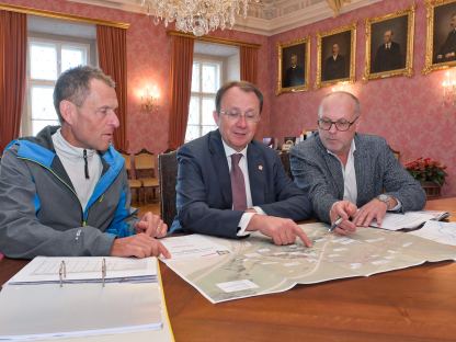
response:
[[[387,210],[422,209],[425,194],[398,162],[385,139],[357,134],[360,102],[333,92],[321,101],[318,133],[290,151],[295,182],[309,193],[326,223],[341,218],[339,233],[356,226],[381,225]]]

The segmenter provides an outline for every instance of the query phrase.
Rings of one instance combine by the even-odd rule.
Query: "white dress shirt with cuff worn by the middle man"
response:
[[[243,150],[241,150],[240,152],[238,152],[237,150],[235,150],[233,148],[229,147],[227,144],[225,144],[224,139],[221,139],[221,142],[224,144],[224,149],[225,149],[225,156],[227,157],[228,160],[228,168],[229,171],[231,172],[231,155],[235,153],[241,153],[242,158],[239,160],[239,168],[242,171],[243,174],[243,181],[246,183],[246,198],[247,198],[247,207],[248,208],[253,208],[256,214],[261,214],[261,215],[265,215],[265,213],[263,212],[262,208],[260,208],[259,206],[253,206],[252,203],[252,193],[250,191],[250,179],[249,179],[249,166],[247,163],[247,148],[249,146],[246,146],[246,148]],[[238,237],[243,237],[249,235],[249,232],[246,232],[246,228],[247,226],[249,226],[250,220],[252,219],[253,215],[255,215],[255,213],[243,213],[241,219],[239,220],[238,227]]]

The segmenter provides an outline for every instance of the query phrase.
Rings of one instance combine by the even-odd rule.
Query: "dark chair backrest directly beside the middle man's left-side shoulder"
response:
[[[178,182],[176,152],[158,156],[158,176],[160,183],[160,213],[162,220],[171,227],[178,214],[175,208],[175,184]]]

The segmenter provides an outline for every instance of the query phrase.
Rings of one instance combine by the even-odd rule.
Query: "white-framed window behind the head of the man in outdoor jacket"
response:
[[[58,125],[53,92],[65,70],[87,65],[90,44],[29,37],[27,105],[22,121],[23,135],[36,135],[47,125]]]

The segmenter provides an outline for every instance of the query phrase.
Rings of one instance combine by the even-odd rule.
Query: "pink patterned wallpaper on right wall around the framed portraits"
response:
[[[362,105],[360,132],[385,137],[390,146],[401,152],[401,161],[408,162],[418,157],[431,157],[445,163],[449,176],[443,187],[444,195],[456,195],[456,109],[442,105],[442,81],[445,71],[434,71],[423,76],[426,10],[424,1],[415,1],[415,31],[413,53],[413,77],[395,77],[362,81],[365,64],[366,18],[381,16],[409,8],[410,0],[386,0],[376,4],[328,19],[311,25],[288,31],[270,37],[270,89],[277,80],[277,43],[288,42],[310,35],[311,65],[310,84],[317,75],[317,32],[357,22],[356,34],[356,82],[344,88],[358,96]],[[331,91],[331,87],[299,93],[272,94],[271,130],[273,136],[297,135],[303,128],[317,127],[317,109],[320,99]]]

